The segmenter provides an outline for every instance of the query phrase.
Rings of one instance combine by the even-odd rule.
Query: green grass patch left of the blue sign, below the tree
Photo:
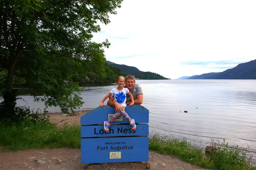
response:
[[[0,132],[0,146],[10,151],[80,147],[79,126],[56,128],[45,117],[36,120],[26,117],[15,123],[1,121]]]

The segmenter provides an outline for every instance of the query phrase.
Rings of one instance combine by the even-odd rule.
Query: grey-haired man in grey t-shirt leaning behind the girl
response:
[[[142,104],[143,102],[143,92],[139,84],[135,84],[135,77],[133,75],[127,75],[125,78],[125,87],[129,89],[131,92],[133,99],[134,99],[134,104]],[[126,96],[126,104],[129,105],[131,103],[131,98],[130,96]],[[123,107],[117,103],[116,101],[114,102],[114,97],[111,97],[108,100],[107,103],[111,107],[116,107],[116,110],[121,112],[123,110]]]

